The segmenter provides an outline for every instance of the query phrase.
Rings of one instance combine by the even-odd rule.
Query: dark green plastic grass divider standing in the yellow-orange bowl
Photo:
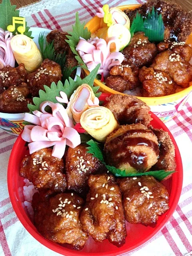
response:
[[[137,12],[136,17],[131,24],[130,33],[133,35],[138,31],[144,32],[150,42],[161,42],[164,40],[164,23],[162,14],[158,15],[154,6],[152,7],[152,11],[148,12],[147,18],[143,19],[141,14]]]

